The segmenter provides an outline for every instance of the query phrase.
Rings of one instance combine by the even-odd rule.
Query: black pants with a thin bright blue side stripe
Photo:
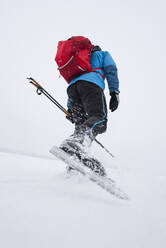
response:
[[[68,90],[76,131],[92,130],[94,136],[106,131],[107,106],[103,90],[94,83],[77,81]]]

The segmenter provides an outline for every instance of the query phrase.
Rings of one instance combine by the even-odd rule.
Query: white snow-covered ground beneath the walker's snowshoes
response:
[[[0,247],[164,248],[166,178],[110,168],[131,201],[49,158],[0,153]]]

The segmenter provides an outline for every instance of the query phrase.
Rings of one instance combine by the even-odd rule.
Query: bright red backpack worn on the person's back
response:
[[[73,36],[68,40],[58,42],[55,61],[60,74],[68,83],[75,77],[94,71],[90,65],[93,47],[90,40],[83,36]]]

